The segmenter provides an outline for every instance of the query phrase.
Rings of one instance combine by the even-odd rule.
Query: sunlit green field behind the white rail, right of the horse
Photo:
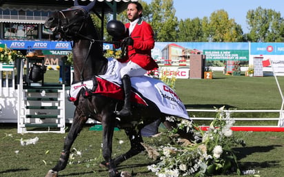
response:
[[[284,89],[284,77],[277,77]],[[274,76],[226,76],[214,72],[214,79],[178,79],[176,92],[187,108],[226,105],[238,110],[280,110],[281,95]]]

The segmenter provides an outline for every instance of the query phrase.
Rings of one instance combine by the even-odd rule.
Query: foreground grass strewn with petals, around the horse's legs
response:
[[[76,156],[74,165],[68,165],[60,172],[59,176],[108,176],[106,169],[99,167],[101,162],[101,132],[89,131],[89,125],[83,128],[73,147],[82,152],[82,156]],[[63,147],[66,134],[17,134],[14,125],[0,125],[0,176],[45,176],[48,170],[56,165]],[[252,132],[243,135],[247,147],[236,147],[238,160],[242,170],[255,169],[260,176],[281,176],[284,170],[284,134],[280,132]],[[6,136],[6,134],[12,134]],[[21,146],[19,139],[39,137],[35,145]],[[149,138],[144,138],[147,142]],[[124,143],[119,144],[118,141]],[[122,154],[130,148],[128,138],[123,131],[114,132],[114,156]],[[15,151],[19,151],[18,154]],[[48,153],[47,153],[48,152]],[[74,153],[74,152],[73,152]],[[78,160],[81,163],[78,163]],[[45,164],[46,163],[46,164]],[[121,163],[120,171],[133,172],[136,177],[154,177],[148,171],[147,166],[152,163],[147,154],[139,154]],[[231,174],[230,176],[236,176]],[[252,176],[252,175],[247,175]]]

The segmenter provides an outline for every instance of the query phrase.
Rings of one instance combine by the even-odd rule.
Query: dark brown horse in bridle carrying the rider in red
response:
[[[61,34],[61,37],[73,41],[72,53],[74,62],[73,83],[83,83],[83,81],[92,80],[94,86],[97,85],[97,77],[105,74],[108,70],[108,59],[103,56],[103,41],[100,40],[99,34],[90,17],[90,11],[94,7],[96,1],[92,1],[87,6],[80,6],[77,0],[71,8],[60,10],[52,13],[45,19],[45,28],[52,30],[54,34]],[[110,177],[120,176],[116,166],[124,160],[139,154],[145,148],[141,129],[154,121],[160,121],[167,129],[176,127],[176,122],[166,121],[166,116],[170,114],[162,113],[155,103],[145,98],[147,105],[133,104],[132,116],[128,118],[116,118],[114,113],[121,109],[123,100],[110,98],[101,94],[85,94],[87,88],[82,87],[74,105],[74,117],[72,125],[66,136],[63,150],[57,165],[48,171],[46,177],[58,176],[59,171],[65,169],[70,156],[70,149],[74,140],[77,138],[83,125],[88,118],[99,121],[103,126],[103,158],[105,161],[101,163],[108,168]],[[132,122],[139,122],[133,125]],[[131,147],[128,152],[112,158],[112,137],[114,128],[124,129],[125,134],[129,137]],[[187,139],[192,135],[180,130],[179,134],[183,134]]]

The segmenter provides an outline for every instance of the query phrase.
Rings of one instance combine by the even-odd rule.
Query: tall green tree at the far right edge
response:
[[[247,39],[252,42],[283,41],[284,22],[280,12],[261,7],[247,12],[247,24],[250,32]]]

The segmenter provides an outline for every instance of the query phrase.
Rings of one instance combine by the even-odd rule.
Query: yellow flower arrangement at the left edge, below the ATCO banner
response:
[[[3,47],[0,47],[0,62],[1,63],[12,63],[17,58],[24,58],[23,54],[20,51],[15,51],[8,49],[6,44]]]

